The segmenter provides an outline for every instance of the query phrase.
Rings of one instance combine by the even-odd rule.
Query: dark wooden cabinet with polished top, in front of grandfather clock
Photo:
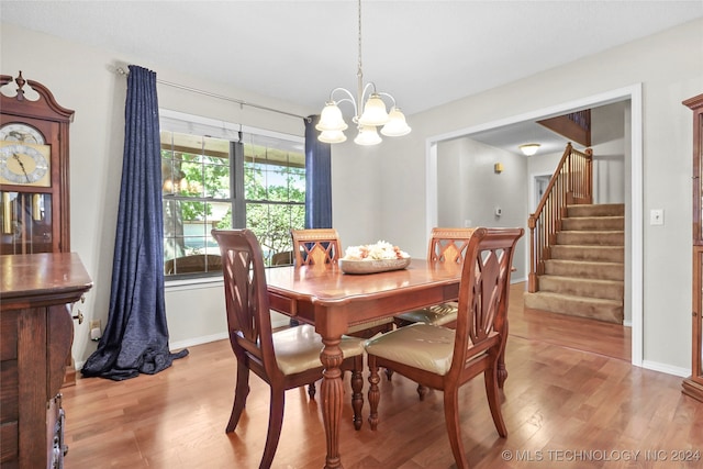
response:
[[[78,255],[46,253],[0,256],[0,468],[63,468],[70,305],[92,282]]]

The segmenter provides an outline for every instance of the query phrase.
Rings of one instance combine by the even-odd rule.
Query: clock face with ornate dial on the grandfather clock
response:
[[[48,187],[48,146],[18,143],[0,147],[0,183]]]

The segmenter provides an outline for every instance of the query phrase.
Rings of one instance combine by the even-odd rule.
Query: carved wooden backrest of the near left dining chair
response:
[[[232,350],[265,369],[280,373],[274,353],[271,316],[264,268],[264,255],[249,230],[213,230],[220,245],[227,330]],[[253,365],[254,366],[254,365]]]

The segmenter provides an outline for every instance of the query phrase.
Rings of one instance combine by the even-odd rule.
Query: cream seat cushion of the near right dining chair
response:
[[[454,356],[455,331],[424,323],[400,327],[366,343],[366,351],[444,376]]]

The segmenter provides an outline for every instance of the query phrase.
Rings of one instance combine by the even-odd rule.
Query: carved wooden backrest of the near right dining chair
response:
[[[466,252],[449,373],[461,373],[472,356],[498,346],[505,333],[510,276],[523,228],[476,228]]]

